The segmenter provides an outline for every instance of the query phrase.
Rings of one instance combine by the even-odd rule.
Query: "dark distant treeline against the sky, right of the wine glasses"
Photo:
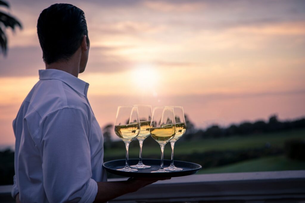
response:
[[[206,130],[191,129],[190,133],[188,133],[187,136],[184,136],[184,138],[203,139],[229,137],[233,135],[246,136],[255,133],[276,132],[298,128],[305,128],[305,118],[297,119],[294,121],[279,121],[276,115],[272,115],[268,122],[258,120],[253,123],[242,122],[240,124],[232,124],[227,128],[221,127],[219,125],[212,125]]]

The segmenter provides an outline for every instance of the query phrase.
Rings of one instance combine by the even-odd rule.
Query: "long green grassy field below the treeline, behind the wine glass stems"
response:
[[[222,150],[237,150],[237,149],[249,149],[264,147],[266,144],[271,147],[283,147],[285,140],[288,139],[305,139],[305,129],[283,131],[277,133],[264,133],[264,134],[253,134],[247,136],[233,136],[228,138],[217,138],[217,139],[202,139],[196,141],[180,141],[176,142],[174,154],[191,154],[193,152],[206,152],[206,151],[222,151]],[[148,139],[148,138],[147,138]],[[133,142],[138,142],[134,140]],[[129,155],[130,158],[138,158],[139,148],[130,147]],[[145,155],[160,154],[160,146],[155,142],[154,146],[145,146],[143,143],[143,158]],[[105,150],[105,157],[122,156],[125,158],[125,147],[124,143],[121,142],[120,148],[107,149]],[[165,159],[170,158],[170,145],[167,144],[164,150]]]

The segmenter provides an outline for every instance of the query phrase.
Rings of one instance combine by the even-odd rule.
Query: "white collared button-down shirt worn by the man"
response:
[[[39,70],[39,79],[13,121],[12,196],[19,193],[21,202],[93,202],[96,182],[107,179],[89,84],[55,69]]]

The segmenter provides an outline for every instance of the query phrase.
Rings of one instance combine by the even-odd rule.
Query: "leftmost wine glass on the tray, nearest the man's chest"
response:
[[[137,172],[137,169],[132,169],[128,164],[128,147],[129,143],[139,135],[140,122],[138,115],[138,107],[134,106],[118,106],[117,117],[114,124],[114,131],[119,138],[123,140],[126,146],[126,164],[122,169],[117,169],[127,172]]]

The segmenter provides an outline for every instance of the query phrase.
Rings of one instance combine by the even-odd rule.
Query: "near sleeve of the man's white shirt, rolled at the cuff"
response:
[[[42,127],[43,186],[49,202],[93,202],[89,121],[83,111],[64,108],[49,114]]]

